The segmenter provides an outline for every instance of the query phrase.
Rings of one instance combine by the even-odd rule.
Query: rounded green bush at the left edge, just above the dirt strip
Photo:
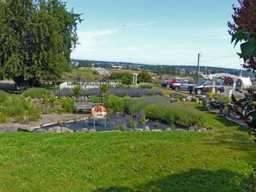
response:
[[[13,117],[16,121],[24,119],[35,121],[40,118],[40,109],[36,108],[32,102],[17,95],[6,100],[0,106],[0,113],[6,117]]]

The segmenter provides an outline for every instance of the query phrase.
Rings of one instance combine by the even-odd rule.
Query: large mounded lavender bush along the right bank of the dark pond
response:
[[[191,125],[204,127],[205,122],[204,116],[197,111],[177,103],[171,103],[168,99],[159,96],[128,99],[125,102],[125,111],[135,114],[144,111],[146,118],[181,127],[190,127]]]

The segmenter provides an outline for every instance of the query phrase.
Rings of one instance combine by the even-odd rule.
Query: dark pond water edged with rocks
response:
[[[117,130],[118,129],[118,124],[125,124],[127,129],[131,128],[129,127],[129,124],[127,123],[127,119],[131,118],[131,116],[127,115],[116,115],[116,114],[111,114],[107,118],[107,126],[104,127],[104,121],[96,121],[95,122],[95,128],[97,131],[112,131],[112,130]],[[136,118],[132,118],[133,120],[136,120]],[[86,125],[84,125],[86,124]],[[161,129],[164,131],[166,128],[170,127],[167,124],[161,123],[161,122],[156,122],[153,120],[148,120],[146,123],[150,130],[152,129]],[[50,125],[45,127],[44,129],[48,130],[52,127],[56,127],[57,125]],[[68,129],[71,129],[73,131],[78,131],[80,129],[87,128],[88,130],[93,129],[93,119],[90,120],[81,120],[77,122],[72,122],[72,123],[63,123],[61,125],[62,127],[67,127]],[[137,120],[137,129],[143,129],[143,124]]]

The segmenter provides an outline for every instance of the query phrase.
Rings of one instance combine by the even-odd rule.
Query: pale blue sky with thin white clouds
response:
[[[237,0],[67,0],[83,13],[72,58],[241,68],[227,21]]]

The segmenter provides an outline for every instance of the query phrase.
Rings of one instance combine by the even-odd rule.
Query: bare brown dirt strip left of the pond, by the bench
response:
[[[40,125],[45,125],[45,124],[52,124],[56,123],[58,121],[61,122],[68,122],[70,120],[82,120],[83,118],[88,117],[89,114],[42,114],[40,120],[36,122],[29,122],[29,124],[24,125],[24,124],[19,124],[19,123],[6,123],[6,124],[0,124],[0,129],[4,129],[6,127],[39,127]]]

